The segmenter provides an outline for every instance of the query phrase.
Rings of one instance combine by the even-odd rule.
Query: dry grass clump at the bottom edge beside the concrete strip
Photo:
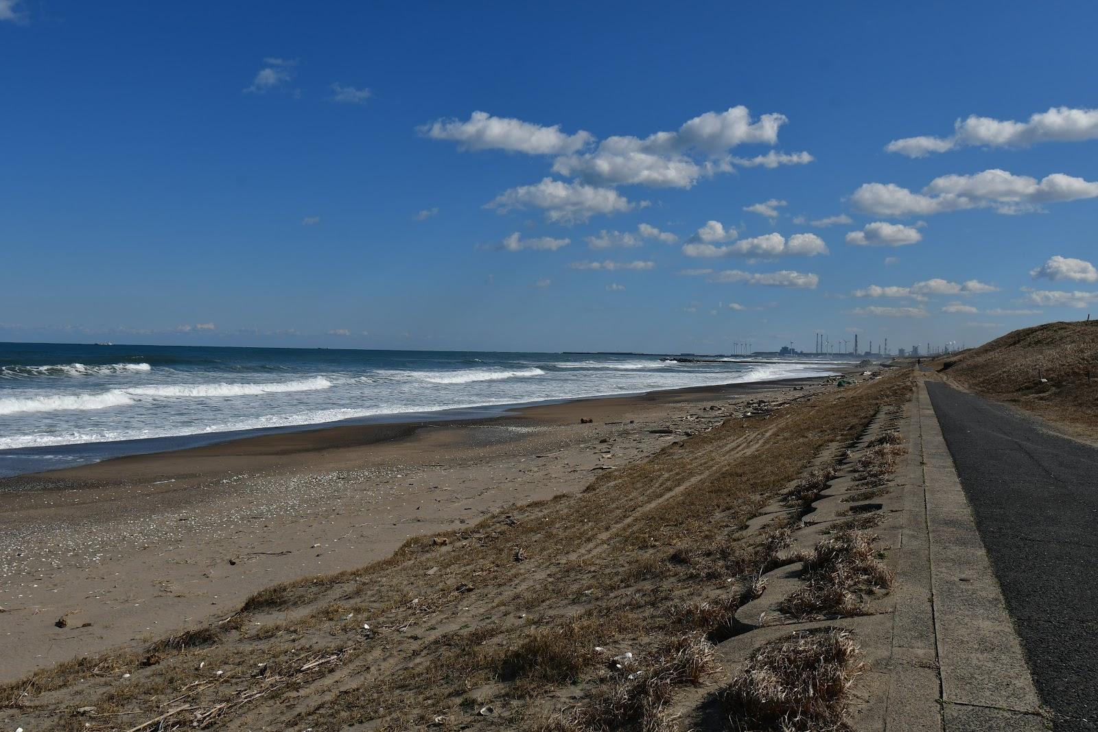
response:
[[[847,692],[864,671],[849,631],[798,631],[766,643],[721,695],[732,730],[848,728]]]

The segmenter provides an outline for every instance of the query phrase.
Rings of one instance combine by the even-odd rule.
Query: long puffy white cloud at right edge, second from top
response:
[[[994,207],[999,213],[1039,211],[1042,203],[1098,198],[1098,182],[1052,173],[1038,181],[991,169],[974,176],[942,176],[921,193],[895,183],[865,183],[851,196],[854,205],[879,216],[930,215]]]

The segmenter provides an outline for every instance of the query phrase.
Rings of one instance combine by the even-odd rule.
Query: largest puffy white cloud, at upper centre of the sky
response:
[[[732,160],[727,153],[731,148],[747,143],[777,143],[778,127],[785,122],[783,114],[763,114],[752,120],[742,105],[725,112],[706,112],[686,121],[674,132],[657,132],[648,137],[607,137],[592,151],[557,158],[553,171],[596,185],[691,188],[699,178],[730,172]],[[811,159],[807,153],[787,157],[791,159],[780,155],[761,156],[758,162],[743,161],[741,165],[775,167],[794,161],[794,157],[796,162]]]

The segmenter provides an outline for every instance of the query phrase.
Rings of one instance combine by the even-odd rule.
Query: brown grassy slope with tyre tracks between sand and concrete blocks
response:
[[[747,520],[910,384],[896,372],[730,419],[580,494],[272,587],[190,634],[37,672],[0,687],[0,727],[126,730],[184,707],[152,729],[547,729],[539,719],[613,687],[596,645],[658,658],[713,630],[687,604],[735,610],[772,551],[743,536]]]

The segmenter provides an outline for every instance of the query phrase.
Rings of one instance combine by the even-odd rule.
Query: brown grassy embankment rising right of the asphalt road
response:
[[[946,357],[940,368],[975,392],[1098,436],[1096,320],[1049,323],[1015,330],[979,348]]]

